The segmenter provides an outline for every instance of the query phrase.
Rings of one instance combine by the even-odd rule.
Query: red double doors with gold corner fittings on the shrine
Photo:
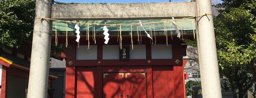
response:
[[[147,98],[146,72],[103,73],[103,98]]]

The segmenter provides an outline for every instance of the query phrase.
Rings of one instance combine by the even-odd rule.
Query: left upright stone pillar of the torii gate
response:
[[[33,42],[27,98],[47,98],[49,62],[51,50],[53,0],[36,0]]]

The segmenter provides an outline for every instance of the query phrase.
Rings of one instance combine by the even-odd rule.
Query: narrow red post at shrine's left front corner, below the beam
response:
[[[66,67],[66,98],[75,98],[75,67]]]

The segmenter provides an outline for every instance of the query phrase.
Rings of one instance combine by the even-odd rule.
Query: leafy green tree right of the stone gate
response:
[[[238,90],[239,98],[243,98],[256,75],[252,63],[256,57],[256,0],[222,1],[215,6],[222,8],[218,10],[222,17],[214,20],[220,74],[227,77],[231,90]]]

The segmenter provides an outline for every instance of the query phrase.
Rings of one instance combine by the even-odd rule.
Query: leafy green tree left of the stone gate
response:
[[[0,0],[0,47],[30,48],[35,0]]]

